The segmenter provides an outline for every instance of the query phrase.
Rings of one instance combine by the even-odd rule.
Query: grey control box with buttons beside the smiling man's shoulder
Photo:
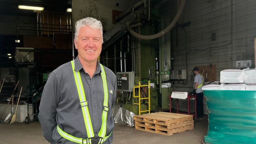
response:
[[[133,92],[134,72],[117,72],[117,91]]]

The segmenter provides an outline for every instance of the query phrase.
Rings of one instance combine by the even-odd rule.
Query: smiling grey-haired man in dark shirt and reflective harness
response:
[[[45,84],[38,115],[52,144],[111,144],[116,75],[97,58],[103,43],[100,21],[75,23],[78,56],[54,70]]]

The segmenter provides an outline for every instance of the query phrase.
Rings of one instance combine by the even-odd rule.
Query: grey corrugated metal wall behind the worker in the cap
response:
[[[233,7],[231,7],[231,2],[233,3]],[[220,71],[231,69],[232,67],[231,47],[233,48],[233,68],[236,68],[237,60],[252,60],[252,67],[255,66],[255,0],[187,0],[178,23],[182,24],[189,21],[191,24],[184,27],[187,35],[187,51],[209,47],[216,48],[210,48],[204,51],[191,51],[187,54],[189,81],[187,85],[172,85],[175,86],[175,91],[191,92],[193,90],[193,81],[190,78],[194,66],[216,65],[217,80],[219,81]],[[233,29],[231,29],[232,25]],[[233,31],[233,35],[231,31]],[[216,32],[216,40],[213,41],[211,38],[212,32]],[[182,29],[178,28],[178,47],[176,47],[175,33],[173,36],[174,49],[180,52],[182,56],[174,51],[174,70],[186,69],[185,35]],[[231,41],[231,37],[233,37],[233,41]],[[183,110],[186,110],[185,107],[186,104],[184,104]],[[204,113],[208,114],[205,100],[204,108]]]

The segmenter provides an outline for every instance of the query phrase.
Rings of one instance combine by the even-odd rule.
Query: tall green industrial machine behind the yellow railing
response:
[[[150,13],[139,9],[132,12],[131,21],[133,31],[141,35],[153,35],[168,26],[170,18],[169,21],[161,20],[158,9],[151,9]],[[150,82],[150,110],[169,110],[169,95],[173,89],[171,85],[162,87],[162,84],[170,81],[170,32],[155,39],[140,39],[124,28],[111,36],[103,44],[102,50],[101,63],[117,74],[116,105],[136,115],[139,114],[139,107],[135,103],[140,103],[140,111],[148,110],[147,100],[138,102],[133,97],[133,93],[137,95],[138,91],[133,92],[132,88],[139,82],[142,85]],[[141,89],[142,98],[148,96],[146,91],[148,88]]]

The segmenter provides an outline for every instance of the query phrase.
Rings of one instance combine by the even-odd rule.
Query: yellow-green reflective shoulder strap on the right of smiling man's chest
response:
[[[107,111],[108,111],[108,86],[107,86],[107,80],[106,80],[106,73],[105,70],[100,64],[101,68],[101,77],[102,77],[102,83],[103,83],[103,89],[104,89],[104,102],[103,102],[103,111],[102,111],[102,124],[101,124],[101,129],[99,131],[98,136],[99,137],[105,137],[106,135],[106,125],[107,125]],[[103,141],[101,142],[101,144]]]

